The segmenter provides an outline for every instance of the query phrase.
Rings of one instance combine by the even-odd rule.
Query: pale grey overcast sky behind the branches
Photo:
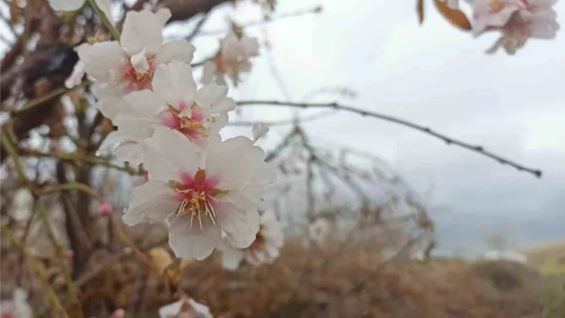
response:
[[[433,6],[428,6],[420,27],[415,1],[279,2],[279,13],[322,2],[323,13],[249,29],[249,35],[262,39],[268,35],[271,59],[288,93],[271,75],[263,49],[251,76],[234,93],[237,98],[302,100],[311,90],[344,86],[358,93],[355,100],[338,98],[348,105],[429,125],[543,170],[544,177],[536,179],[417,131],[356,114],[340,112],[308,124],[308,133],[319,143],[374,153],[420,192],[432,189],[428,201],[440,249],[484,249],[483,242],[492,232],[507,235],[516,247],[564,236],[565,41],[561,33],[550,42],[532,40],[513,57],[503,52],[489,56],[484,50],[496,35],[473,39],[448,25]],[[563,1],[556,9],[565,13]],[[206,29],[225,25],[226,14],[241,22],[259,18],[256,8],[242,5],[237,11],[215,14]],[[215,41],[196,40],[197,48],[206,47],[210,40]],[[202,49],[199,53],[198,57],[207,54]],[[328,101],[336,98],[326,96]],[[246,119],[270,120],[290,118],[294,112],[244,110]],[[270,140],[276,141],[287,129],[273,128]]]

